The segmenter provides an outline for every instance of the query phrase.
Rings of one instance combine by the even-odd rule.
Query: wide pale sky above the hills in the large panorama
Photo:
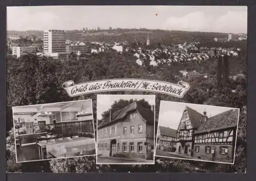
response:
[[[157,14],[157,15],[156,15]],[[146,28],[247,33],[246,6],[7,7],[7,30]]]

